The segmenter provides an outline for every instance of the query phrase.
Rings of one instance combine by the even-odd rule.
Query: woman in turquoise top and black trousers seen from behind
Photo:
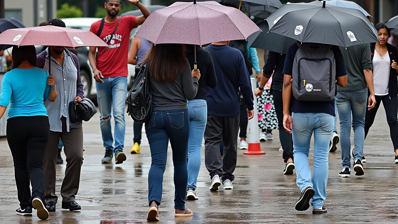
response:
[[[7,141],[14,160],[20,208],[16,213],[45,220],[43,158],[50,134],[44,98],[55,101],[53,75],[36,67],[34,46],[13,47],[12,70],[4,75],[0,92],[0,118],[8,104]],[[32,185],[32,193],[29,185]]]

